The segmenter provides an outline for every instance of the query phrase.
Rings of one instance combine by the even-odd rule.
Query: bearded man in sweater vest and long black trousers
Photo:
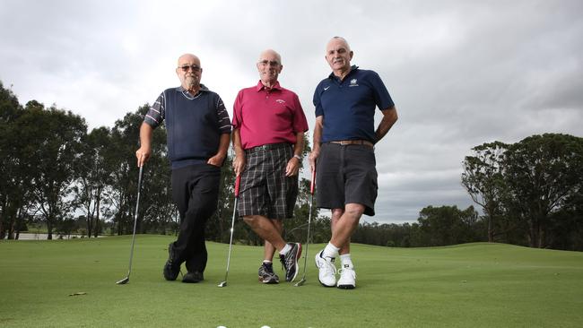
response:
[[[178,240],[168,247],[163,275],[175,281],[186,262],[182,282],[204,280],[207,252],[204,245],[206,220],[216,210],[222,162],[231,140],[231,123],[221,97],[200,83],[203,69],[198,57],[178,58],[180,86],[161,93],[140,127],[138,167],[152,153],[153,129],[166,121],[172,198],[180,213]]]

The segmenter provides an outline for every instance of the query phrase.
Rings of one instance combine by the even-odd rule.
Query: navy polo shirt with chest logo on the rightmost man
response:
[[[379,74],[352,66],[344,80],[330,75],[314,91],[316,117],[324,116],[321,142],[367,140],[377,142],[375,108],[395,106]]]

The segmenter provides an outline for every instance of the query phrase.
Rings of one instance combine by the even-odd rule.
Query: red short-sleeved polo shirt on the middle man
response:
[[[276,82],[271,89],[257,86],[239,91],[233,105],[233,129],[239,129],[243,149],[269,143],[296,142],[296,134],[308,131],[300,99]]]

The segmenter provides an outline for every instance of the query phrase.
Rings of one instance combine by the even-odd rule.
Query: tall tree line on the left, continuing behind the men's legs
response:
[[[146,104],[118,119],[112,128],[88,131],[83,117],[71,111],[54,105],[45,108],[36,100],[22,107],[0,82],[0,239],[17,239],[27,225],[37,222],[46,227],[48,239],[74,229],[83,230],[87,237],[97,237],[106,228],[110,234],[132,233],[138,180],[135,150],[147,110]],[[309,151],[308,146],[304,153]],[[166,130],[161,126],[154,130],[152,156],[144,166],[137,233],[177,230],[166,153]],[[222,167],[219,205],[206,233],[209,240],[229,241],[233,155]],[[286,224],[287,236],[297,240],[305,236],[308,202],[309,181],[301,179],[296,219]],[[312,211],[318,221],[318,209]],[[326,223],[326,218],[322,220]],[[314,226],[323,225],[315,222]],[[251,245],[261,242],[241,220],[235,237]]]

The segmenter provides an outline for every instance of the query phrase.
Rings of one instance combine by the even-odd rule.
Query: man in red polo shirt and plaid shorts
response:
[[[265,240],[259,281],[278,283],[275,249],[285,269],[285,280],[298,274],[300,243],[283,240],[283,219],[291,218],[298,195],[298,171],[308,122],[298,96],[283,89],[277,77],[282,57],[263,51],[257,62],[260,81],[239,91],[233,108],[233,168],[241,175],[239,216]]]

